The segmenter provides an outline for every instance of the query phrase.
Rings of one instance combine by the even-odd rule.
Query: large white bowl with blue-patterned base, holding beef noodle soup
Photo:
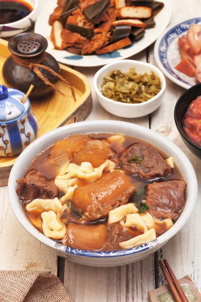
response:
[[[23,177],[27,166],[33,158],[42,152],[46,147],[53,144],[57,139],[61,139],[70,134],[89,133],[89,132],[118,132],[132,135],[156,145],[169,156],[173,157],[178,168],[180,169],[184,180],[187,183],[187,194],[185,207],[170,230],[165,234],[150,242],[129,250],[113,251],[113,252],[90,252],[66,247],[56,243],[55,241],[45,237],[39,233],[25,216],[20,204],[18,195],[16,194],[16,180]],[[136,262],[147,257],[161,248],[172,236],[174,236],[185,224],[194,208],[197,198],[197,180],[187,157],[184,153],[170,140],[164,136],[145,127],[132,123],[121,121],[85,121],[71,125],[67,125],[53,130],[42,137],[36,139],[29,145],[17,159],[9,178],[9,199],[12,209],[24,228],[40,242],[46,244],[53,249],[59,256],[65,257],[70,261],[89,265],[89,266],[118,266]],[[184,240],[184,239],[183,239]]]

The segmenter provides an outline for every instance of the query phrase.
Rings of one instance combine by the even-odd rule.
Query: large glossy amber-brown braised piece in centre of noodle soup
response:
[[[128,202],[135,192],[129,178],[113,171],[94,184],[78,187],[72,195],[75,208],[80,208],[88,220],[107,217],[110,210]]]

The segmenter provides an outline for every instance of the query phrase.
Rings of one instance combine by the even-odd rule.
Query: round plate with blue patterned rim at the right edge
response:
[[[158,67],[171,81],[185,89],[195,85],[195,79],[188,77],[174,67],[181,61],[178,37],[185,35],[193,23],[201,24],[201,17],[185,20],[175,26],[168,27],[158,38],[154,47],[154,56]]]

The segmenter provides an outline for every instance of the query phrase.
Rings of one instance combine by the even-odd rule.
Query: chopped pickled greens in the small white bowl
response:
[[[161,90],[159,77],[151,71],[139,74],[134,67],[128,72],[114,70],[105,75],[101,92],[106,98],[117,102],[137,104],[155,97]]]

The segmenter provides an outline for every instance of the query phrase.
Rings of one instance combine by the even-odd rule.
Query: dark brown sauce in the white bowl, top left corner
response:
[[[23,0],[0,0],[0,23],[9,24],[27,17],[32,6]]]

